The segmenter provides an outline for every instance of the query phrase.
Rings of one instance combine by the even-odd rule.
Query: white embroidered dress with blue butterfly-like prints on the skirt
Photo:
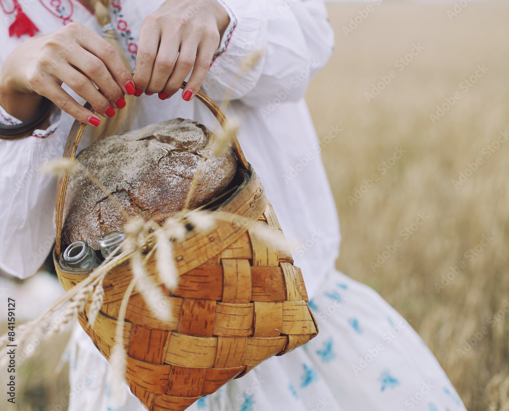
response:
[[[111,3],[112,23],[134,66],[142,20],[163,1]],[[333,33],[323,2],[220,3],[231,23],[202,88],[220,101],[234,87],[234,101],[225,114],[241,121],[238,136],[243,151],[260,176],[286,236],[298,244],[295,263],[312,297],[309,305],[320,334],[304,347],[267,360],[189,409],[465,410],[410,325],[376,292],[334,268],[339,226],[317,135],[303,100],[310,76],[332,52]],[[8,8],[11,2],[3,0],[3,4]],[[70,21],[100,33],[95,17],[77,1],[20,4],[40,34]],[[9,18],[4,16],[0,25],[0,63],[27,38],[9,37]],[[258,64],[239,78],[242,59],[260,48],[264,53]],[[175,117],[214,125],[205,106],[196,99],[185,102],[177,93],[165,101],[139,97],[132,127]],[[21,140],[0,140],[0,270],[7,275],[33,275],[51,250],[55,181],[39,170],[46,160],[62,155],[72,121],[58,111],[47,130],[36,130]],[[0,122],[18,120],[0,107]],[[330,138],[337,133],[331,127]],[[307,162],[302,160],[306,158]],[[68,355],[70,411],[144,409],[127,386],[123,398],[110,395],[109,365],[80,328],[73,333]]]

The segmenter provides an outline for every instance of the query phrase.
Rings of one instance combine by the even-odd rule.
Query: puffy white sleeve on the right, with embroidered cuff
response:
[[[203,89],[221,100],[254,107],[275,99],[297,101],[309,79],[329,59],[334,36],[322,1],[218,0],[230,15]],[[254,52],[258,61],[245,68]]]

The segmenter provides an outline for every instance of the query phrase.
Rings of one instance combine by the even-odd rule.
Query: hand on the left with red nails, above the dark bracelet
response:
[[[92,81],[99,87],[95,87]],[[34,117],[47,97],[82,123],[97,126],[97,115],[61,87],[69,86],[104,116],[125,106],[134,94],[131,73],[117,50],[80,23],[24,41],[5,60],[0,73],[0,104],[21,121]]]

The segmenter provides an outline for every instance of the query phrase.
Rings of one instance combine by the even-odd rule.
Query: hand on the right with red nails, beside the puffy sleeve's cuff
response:
[[[202,86],[230,17],[216,0],[167,0],[142,24],[134,83],[164,100],[192,74],[182,93],[189,101]]]

